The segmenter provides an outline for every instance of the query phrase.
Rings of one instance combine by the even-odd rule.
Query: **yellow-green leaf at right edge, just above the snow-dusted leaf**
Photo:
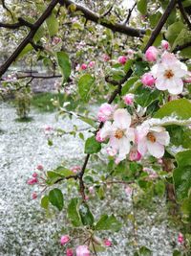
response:
[[[154,118],[177,117],[187,120],[191,118],[191,102],[186,99],[172,101],[159,108]]]

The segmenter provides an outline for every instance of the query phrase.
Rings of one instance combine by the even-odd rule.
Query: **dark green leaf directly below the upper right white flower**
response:
[[[159,95],[159,90],[151,90],[150,88],[140,85],[135,92],[135,101],[138,105],[145,107],[157,101]]]

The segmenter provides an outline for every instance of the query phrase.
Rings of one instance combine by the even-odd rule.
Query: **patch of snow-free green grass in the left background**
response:
[[[31,104],[39,111],[53,112],[57,109],[57,107],[53,105],[52,99],[54,101],[59,101],[60,105],[63,105],[63,103],[65,102],[63,94],[53,94],[50,92],[45,92],[33,95]]]

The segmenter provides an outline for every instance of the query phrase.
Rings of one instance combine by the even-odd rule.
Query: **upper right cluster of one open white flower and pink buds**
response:
[[[169,53],[169,43],[161,42],[162,52],[154,46],[148,48],[145,59],[154,65],[150,72],[145,73],[141,82],[148,87],[156,86],[161,91],[167,90],[171,95],[179,95],[183,91],[183,81],[188,76],[187,66],[180,62],[172,53]],[[188,81],[190,81],[187,78]]]

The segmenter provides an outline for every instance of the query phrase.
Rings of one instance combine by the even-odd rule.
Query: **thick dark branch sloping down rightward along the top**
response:
[[[95,12],[92,12],[83,6],[80,6],[76,3],[74,3],[72,0],[59,0],[59,3],[60,3],[60,5],[64,5],[66,7],[69,7],[72,4],[75,5],[75,10],[82,12],[83,16],[86,19],[91,20],[103,27],[108,28],[108,29],[111,29],[113,32],[119,32],[119,33],[122,33],[125,35],[135,36],[135,37],[141,37],[142,35],[145,34],[144,30],[134,29],[134,28],[126,26],[126,24],[122,24],[122,23],[114,24],[114,23],[110,22],[109,20],[105,21],[104,19],[101,19],[101,16],[99,16]]]

